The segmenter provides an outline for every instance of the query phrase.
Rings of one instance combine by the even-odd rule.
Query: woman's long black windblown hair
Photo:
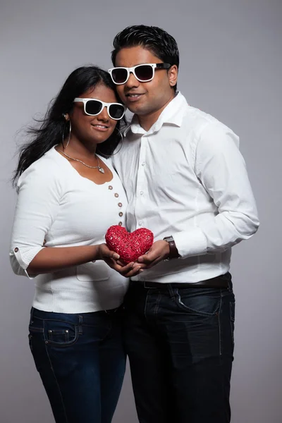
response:
[[[40,159],[51,147],[63,140],[69,130],[69,123],[66,122],[63,115],[72,111],[75,97],[79,97],[99,83],[111,88],[116,94],[116,86],[112,82],[109,73],[97,66],[82,66],[75,69],[68,76],[59,94],[50,102],[44,118],[41,121],[37,121],[41,125],[27,128],[27,133],[32,139],[20,147],[18,166],[13,175],[13,184],[16,183],[16,180],[25,169]],[[118,98],[117,94],[116,96]],[[120,101],[118,99],[118,102]],[[118,142],[120,142],[121,133],[119,130],[121,123],[125,124],[125,119],[123,119],[123,122],[117,121],[112,135],[97,147],[97,153],[103,157],[109,157],[113,154]]]

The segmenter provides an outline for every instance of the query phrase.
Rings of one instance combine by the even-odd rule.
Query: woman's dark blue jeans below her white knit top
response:
[[[31,310],[30,349],[56,423],[110,423],[121,392],[122,309],[61,314]]]

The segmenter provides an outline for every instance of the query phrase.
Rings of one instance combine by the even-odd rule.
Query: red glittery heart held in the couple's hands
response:
[[[114,225],[106,231],[106,245],[120,255],[125,263],[135,262],[154,242],[154,234],[146,228],[128,232],[123,226]]]

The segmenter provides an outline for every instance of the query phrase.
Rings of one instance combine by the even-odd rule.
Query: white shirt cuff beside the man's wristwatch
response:
[[[172,236],[176,243],[180,259],[207,254],[207,238],[200,228],[192,228],[190,231],[173,233]]]

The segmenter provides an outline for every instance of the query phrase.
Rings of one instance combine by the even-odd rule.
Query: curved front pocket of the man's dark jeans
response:
[[[213,317],[219,314],[221,305],[220,289],[188,288],[176,290],[178,308],[202,317]]]

